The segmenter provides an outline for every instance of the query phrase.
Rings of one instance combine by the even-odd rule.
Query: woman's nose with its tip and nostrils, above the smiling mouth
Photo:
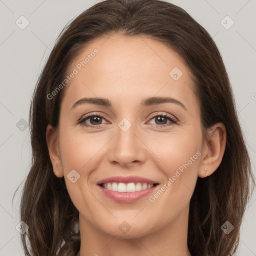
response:
[[[108,147],[108,160],[112,164],[131,167],[146,159],[146,146],[142,142],[135,124],[124,131],[119,126]]]

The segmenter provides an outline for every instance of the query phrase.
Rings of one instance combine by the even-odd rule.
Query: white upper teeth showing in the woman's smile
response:
[[[122,183],[122,182],[107,182],[103,183],[102,186],[108,190],[118,191],[118,192],[134,192],[149,189],[153,186],[153,184],[134,182],[131,183]]]

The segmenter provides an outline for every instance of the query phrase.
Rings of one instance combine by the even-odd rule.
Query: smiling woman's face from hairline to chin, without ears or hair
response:
[[[64,175],[80,225],[117,237],[187,226],[203,141],[181,57],[156,40],[114,34],[90,42],[71,72],[54,172]]]

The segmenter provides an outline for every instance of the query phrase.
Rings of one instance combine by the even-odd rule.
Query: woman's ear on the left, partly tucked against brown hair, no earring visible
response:
[[[53,172],[57,177],[63,177],[64,174],[58,146],[58,132],[51,124],[48,124],[46,127],[45,137]]]

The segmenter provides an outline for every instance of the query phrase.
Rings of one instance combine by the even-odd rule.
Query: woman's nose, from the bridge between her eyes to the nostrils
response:
[[[121,165],[143,161],[145,152],[143,143],[137,138],[137,133],[135,119],[129,121],[127,118],[123,118],[117,124],[116,135],[109,148],[109,161],[118,162]]]

